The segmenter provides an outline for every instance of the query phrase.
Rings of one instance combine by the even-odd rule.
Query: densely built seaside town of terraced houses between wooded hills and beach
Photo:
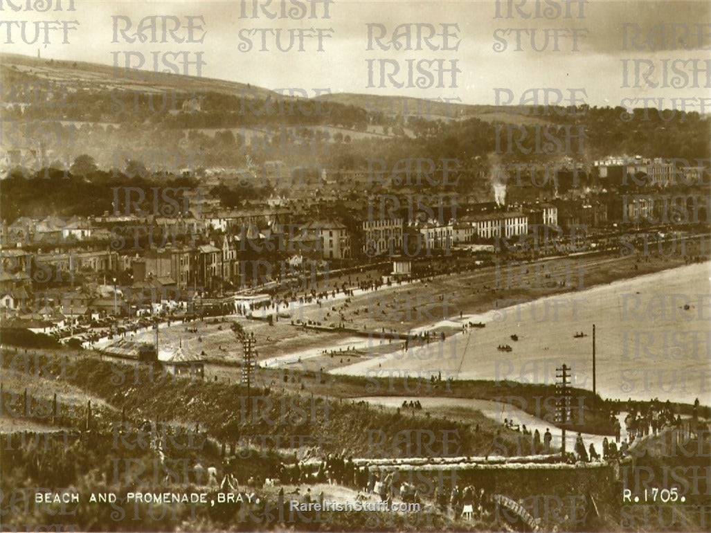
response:
[[[312,208],[284,196],[225,208],[210,194],[215,185],[239,188],[245,179],[294,183],[283,161],[267,161],[263,168],[201,169],[200,176],[186,169],[183,177],[193,178],[195,187],[114,187],[112,210],[98,215],[3,220],[0,312],[14,327],[26,324],[84,344],[107,320],[213,314],[217,308],[235,313],[245,296],[274,294],[289,284],[306,295],[309,280],[316,286],[343,273],[375,269],[386,280],[405,281],[442,257],[469,258],[476,268],[502,258],[617,251],[638,242],[648,248],[649,239],[685,243],[681,237],[703,233],[708,224],[707,195],[669,192],[707,181],[703,162],[603,158],[578,168],[587,181],[597,181],[591,193],[543,189],[535,191],[540,200],[513,204],[506,203],[506,192],[483,203],[456,193],[417,196],[415,203],[412,195],[397,193],[337,200],[349,182],[419,185],[426,176],[430,185],[456,185],[448,177],[456,176],[451,162],[419,160],[412,181],[409,171],[383,176],[380,163],[338,176],[321,169],[322,194]],[[441,178],[433,181],[437,173]],[[645,194],[606,191],[628,181]]]

